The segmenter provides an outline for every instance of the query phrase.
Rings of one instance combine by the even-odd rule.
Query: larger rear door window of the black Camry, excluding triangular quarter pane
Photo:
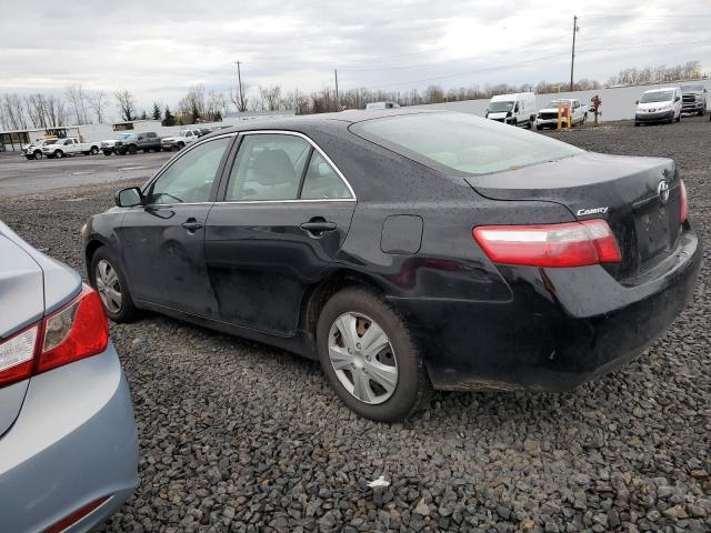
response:
[[[296,135],[244,135],[226,200],[296,200],[310,151],[311,144]]]

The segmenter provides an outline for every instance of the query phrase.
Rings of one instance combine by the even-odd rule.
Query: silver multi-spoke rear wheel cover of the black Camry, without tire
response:
[[[343,313],[329,332],[329,359],[343,388],[363,403],[379,404],[398,385],[398,361],[390,339],[371,318]]]

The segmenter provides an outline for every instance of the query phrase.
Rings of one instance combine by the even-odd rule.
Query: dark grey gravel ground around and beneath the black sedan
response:
[[[711,124],[551,133],[670,155],[711,242]],[[114,187],[0,198],[0,218],[77,269]],[[31,214],[29,214],[31,213]],[[634,363],[572,393],[435,393],[407,423],[351,414],[318,365],[150,316],[112,325],[141,484],[104,531],[711,531],[711,288]],[[367,482],[384,475],[390,486]]]

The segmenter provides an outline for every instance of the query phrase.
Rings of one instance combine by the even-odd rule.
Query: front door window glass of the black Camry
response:
[[[216,139],[193,148],[158,178],[148,203],[196,203],[210,200],[220,161],[231,138]]]

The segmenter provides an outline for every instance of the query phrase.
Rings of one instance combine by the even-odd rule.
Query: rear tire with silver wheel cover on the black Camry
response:
[[[326,303],[317,349],[331,386],[361,416],[395,422],[425,398],[429,384],[410,326],[368,289],[344,289]]]

